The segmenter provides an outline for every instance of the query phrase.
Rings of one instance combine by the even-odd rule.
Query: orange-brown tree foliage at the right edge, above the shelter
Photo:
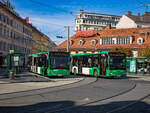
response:
[[[138,57],[150,57],[150,47],[139,49]]]

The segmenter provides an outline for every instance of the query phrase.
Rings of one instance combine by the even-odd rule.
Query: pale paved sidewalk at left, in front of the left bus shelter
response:
[[[79,82],[84,78],[46,78],[37,74],[25,72],[18,74],[14,80],[0,79],[0,94],[28,91],[41,88],[50,88]]]

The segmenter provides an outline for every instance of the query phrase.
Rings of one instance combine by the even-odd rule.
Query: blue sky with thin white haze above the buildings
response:
[[[71,35],[74,34],[75,15],[80,9],[120,16],[132,11],[137,15],[138,12],[143,14],[146,11],[144,4],[150,4],[149,0],[10,0],[10,2],[20,16],[29,17],[30,22],[56,44],[67,39],[64,26],[71,26]],[[56,38],[59,35],[64,38]]]

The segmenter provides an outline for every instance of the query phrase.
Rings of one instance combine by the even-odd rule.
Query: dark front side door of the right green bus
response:
[[[101,54],[100,56],[100,74],[101,75],[106,74],[106,68],[107,68],[107,55]]]

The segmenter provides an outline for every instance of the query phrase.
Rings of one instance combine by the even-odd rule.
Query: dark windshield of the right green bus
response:
[[[110,56],[110,69],[126,69],[124,56]]]

